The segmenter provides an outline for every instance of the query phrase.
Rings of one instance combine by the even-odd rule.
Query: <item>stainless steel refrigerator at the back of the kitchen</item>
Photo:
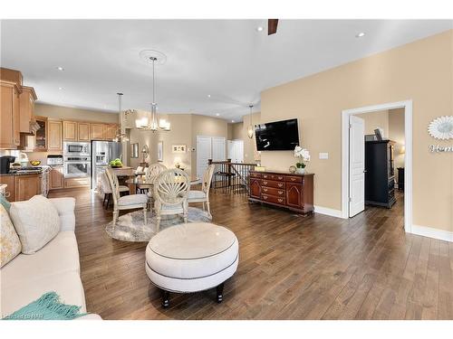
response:
[[[122,161],[121,143],[114,141],[92,141],[92,188],[97,186],[98,174],[105,171],[111,160]]]

